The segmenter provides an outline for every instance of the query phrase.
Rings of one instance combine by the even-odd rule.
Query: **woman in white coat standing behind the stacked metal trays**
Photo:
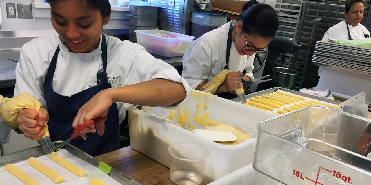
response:
[[[322,41],[328,38],[343,40],[366,39],[370,38],[370,32],[365,26],[360,24],[363,19],[364,1],[347,0],[345,1],[345,20],[329,28]],[[323,67],[318,67],[318,76],[321,76]]]

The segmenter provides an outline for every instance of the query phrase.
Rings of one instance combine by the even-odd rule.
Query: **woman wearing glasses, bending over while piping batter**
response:
[[[191,88],[200,90],[223,69],[227,75],[215,94],[231,99],[242,80],[253,80],[255,53],[266,53],[278,29],[276,11],[256,0],[242,8],[242,18],[204,34],[187,48],[183,57],[182,76]]]

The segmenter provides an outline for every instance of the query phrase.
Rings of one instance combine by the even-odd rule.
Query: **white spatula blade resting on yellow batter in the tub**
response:
[[[227,142],[227,141],[237,140],[237,137],[232,132],[194,129],[194,133],[206,139],[210,139],[211,141],[217,141],[217,142]]]

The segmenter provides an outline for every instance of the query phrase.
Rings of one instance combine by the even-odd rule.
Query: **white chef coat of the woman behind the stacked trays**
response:
[[[358,26],[352,26],[348,24],[348,27],[350,36],[353,40],[366,39],[365,34],[370,36],[370,32],[362,24],[358,24]],[[324,34],[324,37],[321,41],[328,41],[328,38],[339,39],[340,41],[349,40],[347,24],[345,23],[345,21],[341,21],[340,23],[335,24],[335,26],[329,28]],[[324,67],[322,66],[318,67],[318,76],[321,76],[323,68]]]

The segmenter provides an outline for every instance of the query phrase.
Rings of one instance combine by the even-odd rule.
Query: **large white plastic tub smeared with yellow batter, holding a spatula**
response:
[[[197,91],[200,92],[200,91]],[[205,95],[193,95],[191,92],[188,100],[181,107],[184,119],[189,118],[191,124],[195,124],[194,115],[197,111],[196,102],[200,98],[201,110],[198,117],[209,114],[209,120],[226,121],[239,126],[242,129],[256,131],[256,123],[274,114],[260,111],[246,105],[210,95],[207,98],[207,110],[203,110]],[[194,97],[192,97],[194,96]],[[185,110],[188,109],[187,115]],[[221,145],[210,141],[193,132],[187,131],[175,124],[166,121],[171,110],[163,110],[154,107],[153,114],[131,108],[128,111],[130,145],[133,149],[154,159],[161,164],[170,167],[170,154],[168,147],[178,141],[194,141],[203,144],[210,150],[207,158],[203,184],[208,184],[221,176],[229,174],[243,166],[253,162],[256,138],[250,138],[237,145]],[[178,117],[178,110],[175,120]]]

